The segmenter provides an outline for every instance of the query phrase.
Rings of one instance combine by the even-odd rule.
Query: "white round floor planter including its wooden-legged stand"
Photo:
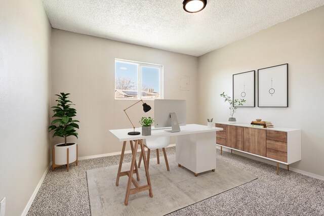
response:
[[[53,170],[55,167],[67,165],[67,170],[70,163],[76,162],[77,165],[77,144],[59,143],[53,148]]]

